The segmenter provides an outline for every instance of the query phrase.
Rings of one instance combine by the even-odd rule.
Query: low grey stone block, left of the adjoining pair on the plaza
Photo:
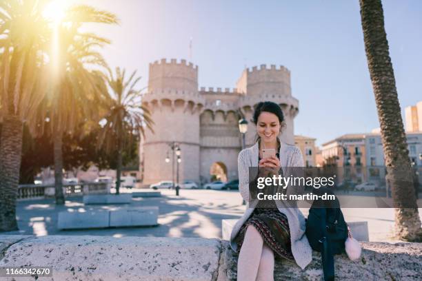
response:
[[[110,211],[88,210],[88,211],[61,211],[57,220],[58,229],[88,229],[97,227],[108,227]]]

